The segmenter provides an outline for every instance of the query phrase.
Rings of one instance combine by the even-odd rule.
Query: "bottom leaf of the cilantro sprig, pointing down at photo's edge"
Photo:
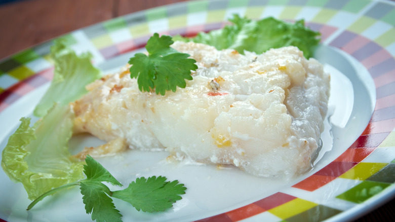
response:
[[[92,220],[122,221],[122,214],[115,209],[110,195],[110,190],[101,182],[82,181],[80,184],[86,212],[92,213]]]

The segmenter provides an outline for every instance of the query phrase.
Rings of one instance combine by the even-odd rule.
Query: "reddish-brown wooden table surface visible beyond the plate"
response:
[[[0,5],[0,60],[78,28],[184,1],[25,0]],[[356,221],[395,221],[395,199]]]

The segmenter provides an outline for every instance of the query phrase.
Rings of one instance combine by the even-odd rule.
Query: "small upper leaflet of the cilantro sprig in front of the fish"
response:
[[[84,173],[87,178],[83,181],[96,181],[96,182],[110,182],[117,186],[123,186],[118,180],[116,180],[110,172],[108,172],[99,162],[94,160],[91,156],[87,155],[85,159],[87,163],[84,165]]]

